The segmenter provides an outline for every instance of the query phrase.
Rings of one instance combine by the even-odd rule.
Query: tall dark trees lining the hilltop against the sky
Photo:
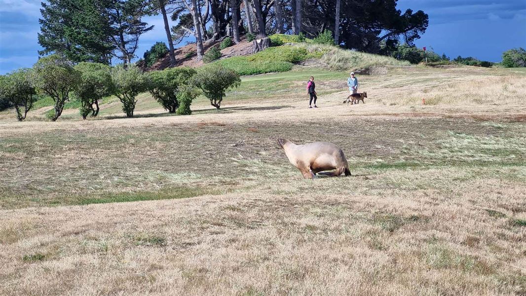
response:
[[[403,39],[411,45],[428,26],[422,11],[396,9],[397,0],[48,0],[42,3],[38,42],[42,55],[57,53],[79,62],[129,64],[140,35],[153,26],[146,15],[161,15],[168,53],[174,66],[174,45],[190,35],[196,52],[204,40],[227,35],[239,43],[251,33],[303,33],[314,38],[329,29],[337,45],[379,52],[382,42]],[[170,17],[169,17],[170,16]],[[171,26],[169,21],[177,22]]]

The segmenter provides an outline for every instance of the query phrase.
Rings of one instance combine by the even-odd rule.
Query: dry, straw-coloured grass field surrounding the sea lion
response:
[[[0,295],[525,294],[526,73],[389,68],[359,105],[320,74],[318,109],[302,68],[191,116],[0,113]],[[278,137],[353,176],[305,180]]]

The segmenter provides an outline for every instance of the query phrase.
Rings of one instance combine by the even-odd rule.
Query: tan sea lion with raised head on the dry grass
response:
[[[329,142],[314,142],[305,145],[296,145],[287,139],[278,139],[278,144],[285,150],[285,155],[290,163],[297,167],[305,178],[315,178],[316,173],[320,171],[333,170],[331,172],[323,172],[322,175],[340,176],[345,173],[345,176],[350,176],[349,164],[343,151]]]

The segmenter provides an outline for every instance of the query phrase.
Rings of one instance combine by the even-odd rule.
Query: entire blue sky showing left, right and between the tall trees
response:
[[[41,0],[0,0],[0,74],[31,67],[38,59]],[[421,9],[429,27],[415,44],[451,58],[458,55],[499,62],[502,52],[526,48],[526,0],[399,0],[398,8]],[[166,42],[163,19],[146,17],[154,29],[140,37],[138,56],[155,42]]]

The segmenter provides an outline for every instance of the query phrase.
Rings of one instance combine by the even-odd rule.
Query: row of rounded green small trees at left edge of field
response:
[[[192,100],[201,91],[219,109],[225,91],[237,87],[240,81],[236,72],[219,65],[143,73],[134,64],[73,65],[64,57],[49,55],[39,59],[31,69],[22,68],[0,76],[0,98],[15,107],[18,120],[24,120],[37,94],[47,95],[54,101],[48,117],[55,121],[70,99],[80,102],[79,113],[86,119],[97,116],[99,100],[110,95],[120,100],[127,117],[133,117],[137,95],[149,91],[169,113],[188,115]]]

